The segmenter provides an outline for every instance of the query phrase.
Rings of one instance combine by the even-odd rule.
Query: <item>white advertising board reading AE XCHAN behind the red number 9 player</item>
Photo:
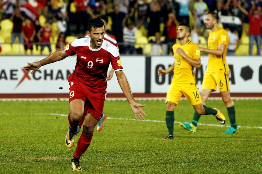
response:
[[[34,74],[24,71],[27,62],[36,62],[46,56],[0,56],[0,94],[67,94],[67,77],[74,71],[76,56],[47,64]],[[123,71],[133,93],[145,91],[145,57],[122,56]],[[109,66],[109,70],[111,69]],[[114,74],[108,81],[108,93],[122,93]]]

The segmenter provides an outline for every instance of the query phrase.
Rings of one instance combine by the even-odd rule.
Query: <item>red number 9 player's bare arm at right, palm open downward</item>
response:
[[[146,104],[136,103],[136,100],[133,97],[129,83],[127,81],[126,75],[123,73],[123,71],[116,71],[115,75],[117,77],[118,83],[123,93],[126,96],[127,101],[130,104],[130,107],[134,113],[135,119],[137,120],[136,116],[138,116],[140,120],[145,120],[143,115],[147,117],[147,114],[141,109],[141,107],[145,106]]]

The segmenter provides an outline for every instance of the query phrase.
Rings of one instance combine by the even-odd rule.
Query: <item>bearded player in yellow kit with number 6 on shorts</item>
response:
[[[222,134],[233,134],[238,132],[238,128],[236,125],[234,103],[231,100],[229,92],[229,67],[226,63],[229,37],[226,30],[218,27],[218,21],[219,17],[214,12],[209,12],[205,16],[206,28],[210,29],[211,32],[208,38],[208,48],[199,47],[200,51],[209,54],[207,70],[202,83],[201,98],[203,104],[206,104],[209,95],[212,91],[216,91],[218,86],[222,100],[226,105],[231,124],[230,128]],[[198,120],[199,118],[200,116]]]

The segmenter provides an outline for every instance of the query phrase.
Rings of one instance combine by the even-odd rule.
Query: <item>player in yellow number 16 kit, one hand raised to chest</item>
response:
[[[214,115],[218,120],[225,122],[225,116],[217,109],[212,109],[202,105],[200,93],[196,86],[195,67],[201,66],[200,51],[196,44],[188,40],[191,29],[187,24],[180,24],[177,29],[177,39],[179,43],[173,45],[174,63],[167,68],[158,69],[159,76],[168,74],[174,70],[173,80],[167,91],[167,110],[166,110],[166,124],[169,135],[166,140],[174,139],[174,109],[178,105],[180,98],[184,95],[188,101],[193,105],[195,112],[200,115]],[[192,123],[184,128],[190,130],[192,133],[196,131],[196,126]]]

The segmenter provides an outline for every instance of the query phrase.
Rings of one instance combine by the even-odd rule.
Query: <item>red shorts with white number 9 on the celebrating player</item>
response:
[[[75,99],[84,101],[84,114],[91,113],[100,120],[102,117],[106,90],[90,89],[87,85],[78,82],[69,82],[69,103]]]

